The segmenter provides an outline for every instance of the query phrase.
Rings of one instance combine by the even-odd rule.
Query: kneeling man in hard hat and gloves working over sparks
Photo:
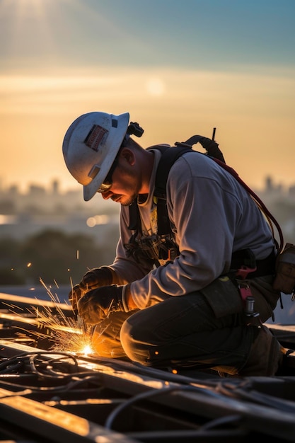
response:
[[[162,151],[139,145],[134,136],[142,132],[129,113],[90,112],[64,136],[64,161],[84,200],[100,192],[120,204],[115,260],[88,270],[69,294],[94,325],[94,349],[166,370],[278,374],[285,350],[263,324],[280,297],[272,289],[277,246],[270,225],[229,171],[190,150],[168,173],[171,230],[158,234]]]

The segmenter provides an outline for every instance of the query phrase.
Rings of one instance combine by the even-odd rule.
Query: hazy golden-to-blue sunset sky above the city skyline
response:
[[[295,185],[294,20],[294,0],[0,0],[1,187],[81,188],[62,139],[92,110],[128,111],[144,147],[216,127],[248,185]]]

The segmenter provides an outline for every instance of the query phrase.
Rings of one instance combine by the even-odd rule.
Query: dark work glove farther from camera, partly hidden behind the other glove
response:
[[[112,270],[108,266],[94,267],[88,270],[79,284],[69,292],[69,301],[74,311],[78,309],[78,302],[83,295],[90,289],[95,289],[100,286],[108,286],[112,284]]]

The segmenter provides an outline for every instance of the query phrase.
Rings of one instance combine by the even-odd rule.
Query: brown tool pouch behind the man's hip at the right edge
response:
[[[282,253],[277,255],[275,264],[276,274],[272,289],[294,294],[295,291],[295,245],[286,243]]]

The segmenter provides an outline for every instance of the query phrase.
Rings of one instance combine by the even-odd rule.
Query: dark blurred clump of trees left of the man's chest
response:
[[[75,284],[91,267],[112,263],[116,244],[117,236],[110,236],[105,248],[93,236],[52,229],[22,241],[0,238],[0,285],[38,284],[40,279]]]

